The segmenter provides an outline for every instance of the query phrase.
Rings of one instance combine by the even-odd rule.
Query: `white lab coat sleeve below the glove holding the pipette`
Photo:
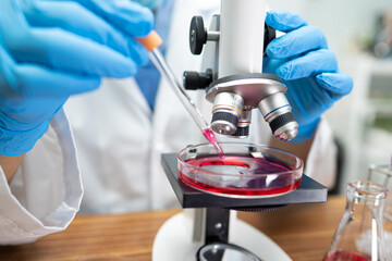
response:
[[[60,110],[10,186],[0,170],[0,245],[34,241],[65,229],[73,220],[83,188],[72,140]]]

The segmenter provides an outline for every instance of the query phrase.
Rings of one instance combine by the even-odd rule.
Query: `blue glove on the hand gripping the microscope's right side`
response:
[[[287,86],[286,97],[298,122],[294,142],[313,137],[321,114],[353,88],[350,75],[341,73],[323,33],[298,14],[267,13],[266,23],[286,33],[267,47],[264,72],[277,74]]]

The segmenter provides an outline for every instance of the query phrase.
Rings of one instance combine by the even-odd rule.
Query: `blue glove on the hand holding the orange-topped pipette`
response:
[[[148,61],[151,12],[126,1],[0,1],[0,154],[30,150],[69,96]]]

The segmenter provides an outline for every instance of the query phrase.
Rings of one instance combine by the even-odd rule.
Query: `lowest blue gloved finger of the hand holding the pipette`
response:
[[[114,78],[130,77],[137,72],[135,62],[120,52],[61,29],[32,29],[22,40],[17,49],[13,48],[17,44],[9,45],[10,52],[19,62],[40,63],[69,73]]]

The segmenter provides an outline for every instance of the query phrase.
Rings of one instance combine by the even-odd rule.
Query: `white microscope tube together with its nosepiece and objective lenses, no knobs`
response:
[[[262,74],[265,20],[266,0],[221,0],[218,79],[206,96],[213,101],[211,128],[246,137],[249,111],[259,108],[272,134],[291,140],[298,124],[284,96],[286,87],[279,77]]]

